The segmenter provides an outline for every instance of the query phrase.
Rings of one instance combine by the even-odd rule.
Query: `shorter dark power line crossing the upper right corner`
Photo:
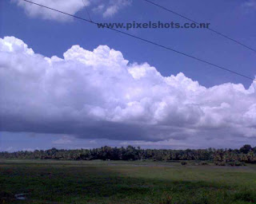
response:
[[[184,19],[186,19],[186,20],[188,20],[188,21],[190,21],[190,22],[194,22],[195,24],[200,25],[199,22],[195,22],[195,21],[192,20],[191,18],[187,18],[186,16],[183,16],[182,14],[178,14],[178,13],[175,12],[174,10],[170,10],[170,9],[168,9],[168,8],[166,8],[166,7],[164,7],[164,6],[161,6],[161,5],[159,5],[159,4],[155,3],[155,2],[151,2],[150,0],[142,0],[142,1],[148,2],[148,3],[150,3],[150,4],[154,5],[154,6],[158,6],[158,7],[161,8],[162,10],[166,10],[166,11],[168,11],[168,12],[170,12],[170,13],[172,13],[172,14],[175,14],[175,15],[181,17],[181,18],[184,18]],[[228,36],[226,36],[225,34],[222,34],[222,33],[218,32],[218,31],[215,30],[215,29],[210,29],[210,28],[207,28],[207,29],[209,29],[209,30],[210,30],[211,32],[213,32],[213,33],[216,33],[216,34],[218,34],[218,35],[220,35],[220,36],[222,36],[222,37],[225,37],[226,39],[228,39],[228,40],[230,40],[230,41],[233,41],[233,42],[237,43],[238,45],[242,45],[242,46],[245,47],[246,49],[250,49],[251,51],[254,51],[254,52],[256,53],[256,49],[253,49],[253,48],[249,47],[248,45],[243,44],[243,43],[240,42],[240,41],[234,40],[233,38],[228,37]]]

